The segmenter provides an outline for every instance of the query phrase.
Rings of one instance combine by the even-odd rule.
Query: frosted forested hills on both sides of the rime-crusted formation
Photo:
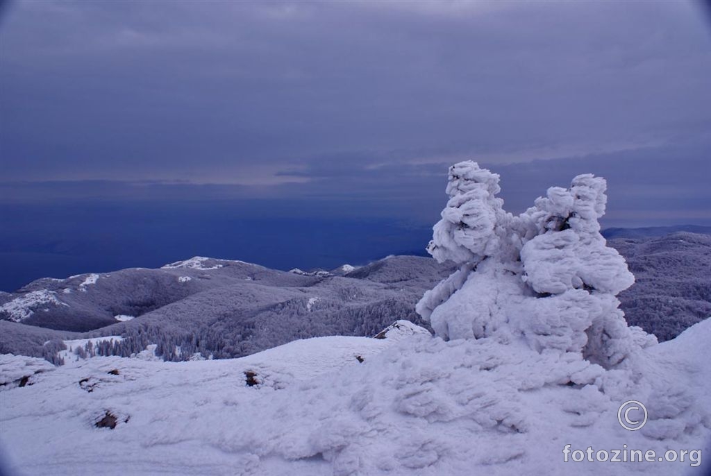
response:
[[[609,244],[636,276],[619,296],[631,325],[668,340],[711,315],[710,236]],[[63,340],[120,335],[102,352],[131,355],[153,344],[166,360],[227,358],[297,338],[375,335],[397,319],[425,325],[415,303],[450,272],[419,256],[310,272],[196,256],[159,269],[43,278],[0,293],[0,352],[52,359]]]

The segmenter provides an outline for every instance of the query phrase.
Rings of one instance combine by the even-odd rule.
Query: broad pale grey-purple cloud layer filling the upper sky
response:
[[[11,178],[215,180],[354,151],[643,146],[711,121],[711,42],[686,4],[14,7]]]

